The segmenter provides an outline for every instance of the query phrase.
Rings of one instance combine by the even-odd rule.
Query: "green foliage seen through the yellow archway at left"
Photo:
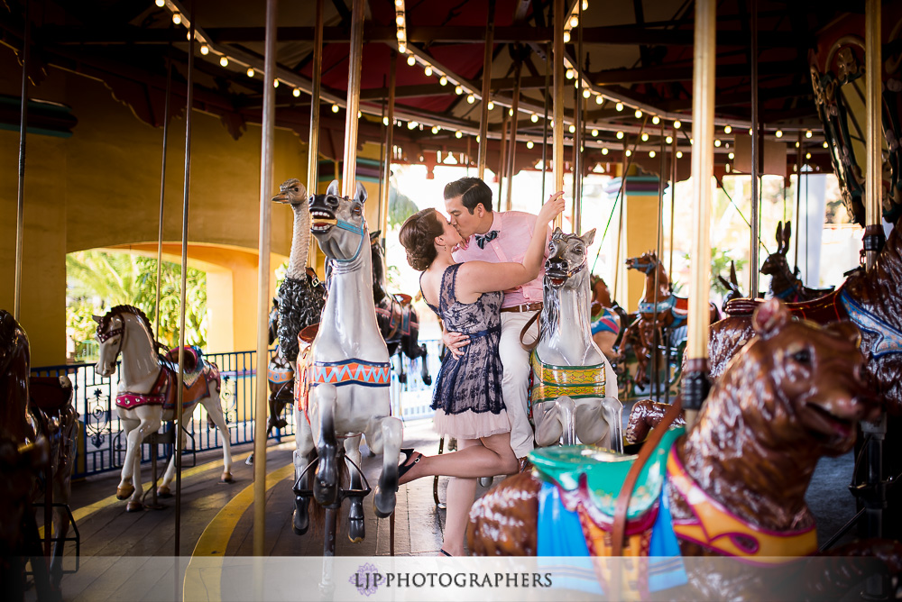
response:
[[[91,315],[104,315],[113,306],[136,306],[151,320],[156,315],[157,260],[131,253],[78,251],[66,256],[66,326],[76,342],[76,357],[94,347],[97,324]],[[188,269],[185,343],[207,345],[207,274]],[[161,269],[160,326],[154,337],[179,344],[181,267],[164,261]],[[96,347],[94,347],[96,349]]]

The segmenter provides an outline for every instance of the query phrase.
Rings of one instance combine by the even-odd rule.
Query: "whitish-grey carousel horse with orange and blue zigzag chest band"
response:
[[[309,526],[308,495],[320,506],[341,503],[337,446],[360,466],[360,435],[373,452],[382,453],[382,474],[373,498],[377,516],[391,515],[398,488],[403,427],[391,416],[389,352],[376,324],[370,237],[364,220],[366,191],[357,184],[354,198],[338,196],[333,180],[325,195],[310,196],[311,233],[332,260],[332,278],[322,321],[308,352],[298,358],[294,452],[296,501],[294,529]],[[307,393],[308,391],[308,393]],[[316,477],[308,465],[318,454]],[[359,470],[350,470],[351,488],[360,489]],[[364,537],[363,501],[351,497],[349,537]]]

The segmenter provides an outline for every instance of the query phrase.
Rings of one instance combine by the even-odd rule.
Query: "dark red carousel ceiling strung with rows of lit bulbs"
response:
[[[0,13],[0,42],[17,52],[23,47],[25,2],[5,0]],[[198,32],[195,108],[218,115],[235,137],[247,123],[260,122],[265,3],[31,0],[30,4],[30,75],[35,83],[48,68],[103,79],[139,118],[160,125],[170,60],[174,103],[178,105],[179,99],[184,103],[186,26],[193,14]],[[349,4],[349,0],[323,2],[320,152],[332,158],[340,158],[343,148]],[[849,0],[723,0],[718,5],[715,123],[723,132],[723,145],[715,149],[719,164],[732,160],[736,134],[750,127],[751,32],[757,28],[762,131],[771,139],[778,131],[786,132],[789,141],[804,133],[808,137],[802,144],[812,152],[811,160],[829,169],[809,56],[816,50],[818,32],[843,19],[861,18],[863,5]],[[302,138],[310,121],[316,7],[316,0],[279,6],[276,121]],[[573,144],[579,104],[578,125],[584,128],[584,145],[595,161],[609,160],[609,154],[619,158],[627,148],[649,158],[650,151],[661,148],[661,138],[673,133],[680,150],[690,149],[693,7],[691,0],[566,0],[567,144]],[[546,107],[550,111],[551,105],[547,99],[552,89],[548,62],[552,0],[369,0],[366,8],[360,141],[384,138],[382,112],[393,62],[398,159],[434,161],[435,150],[475,155],[483,54],[492,20],[490,150],[501,148],[502,136],[510,132],[510,118],[516,122],[520,142],[518,169],[536,165],[546,132]],[[757,23],[751,17],[753,9]],[[518,111],[511,118],[518,86]],[[676,121],[686,127],[676,132]],[[649,163],[654,166],[657,161]],[[591,167],[593,160],[587,164]],[[489,165],[491,169],[491,158]]]

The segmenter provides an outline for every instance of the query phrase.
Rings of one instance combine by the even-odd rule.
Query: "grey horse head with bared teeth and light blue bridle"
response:
[[[353,198],[338,196],[338,180],[332,180],[325,195],[310,196],[310,232],[330,259],[348,262],[360,257],[366,230],[365,202],[366,190],[360,182]]]

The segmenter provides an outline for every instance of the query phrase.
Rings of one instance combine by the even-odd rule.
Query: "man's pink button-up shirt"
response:
[[[520,263],[526,257],[529,241],[532,239],[532,231],[536,227],[537,216],[522,211],[493,211],[492,227],[497,230],[498,236],[485,244],[480,249],[474,236],[467,241],[466,249],[458,249],[452,253],[452,257],[458,263],[463,261],[488,261],[489,263],[514,262]],[[550,238],[550,230],[548,231]],[[545,245],[545,255],[548,256],[548,244]],[[521,306],[529,303],[537,303],[542,300],[542,278],[545,277],[545,267],[538,272],[538,278],[530,280],[520,287],[514,287],[504,291],[502,307]]]

